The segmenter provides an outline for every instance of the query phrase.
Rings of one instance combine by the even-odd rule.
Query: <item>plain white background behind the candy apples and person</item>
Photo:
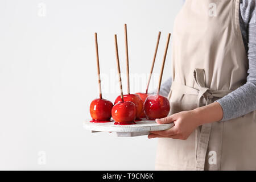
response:
[[[156,139],[91,134],[82,127],[90,118],[90,102],[98,97],[94,32],[103,97],[114,101],[119,94],[114,34],[125,73],[127,23],[131,91],[144,92],[162,31],[152,90],[182,2],[1,0],[0,169],[154,169]],[[163,81],[171,76],[170,66],[171,49]],[[126,93],[125,76],[123,87]],[[46,154],[44,165],[38,163],[40,151]]]

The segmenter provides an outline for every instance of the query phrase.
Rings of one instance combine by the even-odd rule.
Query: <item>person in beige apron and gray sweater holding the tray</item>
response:
[[[187,0],[172,36],[156,169],[256,169],[255,0]],[[171,87],[171,88],[170,88]]]

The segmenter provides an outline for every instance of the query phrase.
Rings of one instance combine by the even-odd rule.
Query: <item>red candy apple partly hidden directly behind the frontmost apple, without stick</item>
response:
[[[130,101],[133,102],[135,104],[136,107],[136,118],[139,119],[139,117],[141,116],[141,113],[143,111],[143,102],[141,100],[141,97],[139,97],[137,94],[127,94],[127,95],[123,95],[123,100],[126,101]],[[118,102],[122,102],[122,99],[120,96],[118,96],[115,99],[115,103],[117,104]]]

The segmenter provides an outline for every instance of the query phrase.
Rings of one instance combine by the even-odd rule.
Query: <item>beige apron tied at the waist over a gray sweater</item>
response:
[[[240,0],[187,0],[172,40],[170,114],[210,104],[246,82]],[[252,99],[254,96],[252,96]],[[256,169],[256,114],[197,128],[187,140],[159,138],[158,170]]]

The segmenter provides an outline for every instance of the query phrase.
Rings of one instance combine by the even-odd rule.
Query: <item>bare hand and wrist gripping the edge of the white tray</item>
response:
[[[223,117],[222,107],[218,102],[194,110],[181,111],[169,117],[156,119],[159,124],[174,123],[174,127],[164,131],[151,131],[148,138],[174,138],[185,140],[196,127],[204,123],[220,121]]]

